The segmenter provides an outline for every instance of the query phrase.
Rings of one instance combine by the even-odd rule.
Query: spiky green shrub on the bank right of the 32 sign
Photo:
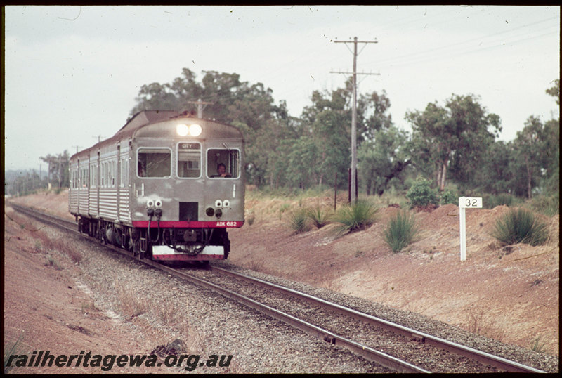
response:
[[[549,231],[547,223],[540,221],[535,214],[518,208],[510,209],[497,219],[492,236],[504,245],[543,245],[547,242]]]

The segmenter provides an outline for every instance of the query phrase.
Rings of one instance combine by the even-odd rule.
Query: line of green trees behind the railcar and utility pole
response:
[[[235,73],[206,71],[197,81],[184,68],[170,83],[141,86],[130,117],[141,110],[194,110],[206,103],[203,117],[233,124],[246,142],[247,182],[259,188],[299,190],[347,188],[351,162],[351,80],[333,91],[313,91],[300,117],[273,91],[250,84]],[[559,106],[559,79],[545,89]],[[538,96],[540,93],[532,93]],[[407,112],[412,132],[398,128],[389,114],[386,92],[361,93],[357,101],[358,185],[367,195],[404,192],[418,176],[435,188],[453,185],[464,195],[508,193],[531,198],[558,196],[559,118],[546,122],[530,115],[513,141],[497,138],[501,119],[475,94],[452,94],[441,105]],[[63,173],[60,159],[65,160]],[[49,182],[68,185],[67,152],[42,157]]]

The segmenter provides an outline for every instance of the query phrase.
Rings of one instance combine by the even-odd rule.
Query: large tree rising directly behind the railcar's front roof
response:
[[[131,116],[141,110],[195,110],[202,117],[217,119],[242,129],[246,141],[246,169],[250,183],[261,185],[268,176],[269,157],[275,154],[280,138],[292,132],[287,105],[275,105],[273,91],[261,83],[242,82],[240,75],[206,71],[201,82],[184,68],[171,83],[141,86]]]

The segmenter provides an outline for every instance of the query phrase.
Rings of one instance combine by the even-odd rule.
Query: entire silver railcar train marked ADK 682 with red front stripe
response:
[[[157,260],[226,259],[244,224],[244,139],[234,126],[143,111],[70,158],[79,230]]]

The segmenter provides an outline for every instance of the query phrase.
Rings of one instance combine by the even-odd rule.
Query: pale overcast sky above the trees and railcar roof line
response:
[[[389,113],[475,95],[512,141],[530,116],[559,117],[558,6],[6,6],[5,169],[39,169],[115,134],[141,86],[183,68],[262,83],[299,117],[313,91],[344,86],[358,44],[358,94]],[[196,99],[192,99],[196,100]],[[203,99],[204,100],[204,99]],[[192,108],[186,104],[186,110]],[[350,119],[351,122],[351,119]]]

